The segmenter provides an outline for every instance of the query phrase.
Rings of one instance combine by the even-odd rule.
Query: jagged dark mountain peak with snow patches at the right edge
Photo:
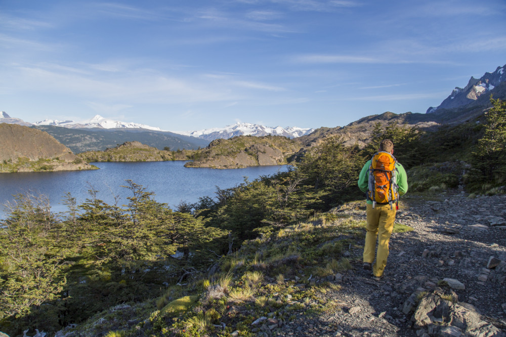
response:
[[[427,113],[435,112],[438,109],[453,109],[468,105],[476,101],[480,96],[488,94],[504,81],[506,81],[506,65],[497,67],[492,73],[486,72],[480,79],[471,76],[465,88],[455,87],[450,96],[438,107],[430,107],[427,109]]]

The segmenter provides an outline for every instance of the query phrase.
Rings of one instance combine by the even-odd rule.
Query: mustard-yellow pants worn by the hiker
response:
[[[376,263],[372,266],[372,274],[374,276],[383,276],[383,271],[387,265],[388,243],[394,229],[395,213],[395,205],[393,209],[390,209],[390,205],[376,204],[372,208],[372,204],[367,204],[367,233],[365,234],[364,262],[372,264],[374,261],[377,237]]]

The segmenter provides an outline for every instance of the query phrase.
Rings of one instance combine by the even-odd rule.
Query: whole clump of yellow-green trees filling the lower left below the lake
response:
[[[213,262],[207,249],[225,231],[173,212],[130,180],[124,187],[132,195],[122,206],[104,203],[93,188],[81,205],[67,194],[61,218],[47,199],[17,196],[0,225],[0,322],[11,332],[55,332],[104,307],[157,296],[163,282],[187,275],[184,268]],[[177,250],[180,260],[171,257]]]

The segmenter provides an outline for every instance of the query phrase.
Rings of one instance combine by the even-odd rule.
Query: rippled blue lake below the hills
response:
[[[158,202],[175,208],[181,201],[196,202],[199,197],[215,196],[216,187],[234,187],[244,181],[286,171],[287,166],[255,166],[233,170],[184,167],[184,161],[154,162],[96,162],[100,170],[70,172],[33,172],[0,174],[0,219],[5,219],[5,204],[14,200],[13,195],[27,192],[48,196],[54,212],[67,210],[62,199],[70,192],[81,204],[90,197],[88,190],[98,190],[97,197],[109,204],[119,196],[119,204],[126,204],[131,191],[121,187],[125,180],[146,187],[154,192]]]

